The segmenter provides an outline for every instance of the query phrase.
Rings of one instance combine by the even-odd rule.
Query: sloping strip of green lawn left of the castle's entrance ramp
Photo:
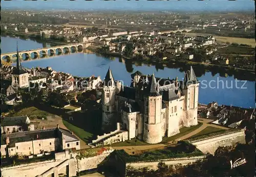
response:
[[[72,125],[71,123],[69,123],[66,120],[62,119],[62,122],[70,131],[73,131],[74,134],[77,135],[80,139],[82,139],[86,143],[90,143],[88,140],[93,137],[93,134],[91,134],[88,131],[83,130],[82,128]]]

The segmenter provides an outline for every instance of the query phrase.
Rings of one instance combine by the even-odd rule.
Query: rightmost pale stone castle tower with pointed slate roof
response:
[[[184,82],[186,86],[183,92],[185,94],[185,109],[187,117],[187,123],[184,123],[185,126],[197,125],[199,82],[197,81],[197,77],[192,67],[190,67],[190,71],[185,73]]]

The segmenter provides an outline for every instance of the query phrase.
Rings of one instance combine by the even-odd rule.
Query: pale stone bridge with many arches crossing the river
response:
[[[59,55],[66,55],[70,53],[82,52],[83,49],[91,46],[91,43],[71,43],[64,46],[54,46],[48,48],[40,48],[27,51],[19,51],[19,58],[23,60],[40,59]],[[16,62],[17,52],[10,52],[1,54],[1,60],[7,62]]]

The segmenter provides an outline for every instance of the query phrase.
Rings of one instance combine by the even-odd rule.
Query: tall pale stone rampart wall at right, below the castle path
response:
[[[228,134],[219,135],[216,137],[190,141],[191,144],[197,146],[197,148],[201,150],[203,153],[211,154],[214,154],[214,152],[219,146],[231,146],[236,144],[237,142],[242,144],[245,143],[244,130],[230,132]]]

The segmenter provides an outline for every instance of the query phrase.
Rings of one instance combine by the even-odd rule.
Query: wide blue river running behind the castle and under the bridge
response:
[[[19,47],[20,50],[31,50],[46,45],[33,40],[16,39],[7,36],[2,37],[2,53],[15,51],[16,41],[22,44]],[[23,61],[22,65],[26,68],[49,66],[55,71],[70,73],[74,76],[88,77],[94,75],[100,76],[101,79],[105,77],[110,67],[115,80],[122,80],[125,85],[130,85],[131,74],[136,71],[140,71],[143,74],[152,74],[154,72],[156,77],[161,78],[175,78],[177,76],[179,80],[182,80],[184,76],[181,69],[167,67],[160,69],[150,64],[131,63],[120,58],[112,57],[110,59],[89,53],[75,53],[47,59]],[[195,73],[198,73],[198,71],[195,71]],[[234,76],[226,74],[225,77],[221,77],[218,73],[213,76],[211,72],[204,72],[198,77],[198,80],[201,81],[199,89],[200,103],[208,104],[209,102],[217,101],[218,104],[247,108],[255,105],[254,81],[236,81]]]

